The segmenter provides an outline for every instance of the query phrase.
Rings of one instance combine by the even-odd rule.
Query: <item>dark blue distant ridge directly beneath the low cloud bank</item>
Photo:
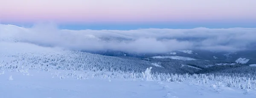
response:
[[[199,60],[207,61],[228,61],[230,63],[236,62],[239,58],[248,59],[246,63],[243,64],[253,64],[256,63],[256,50],[250,51],[239,51],[239,52],[211,52],[206,50],[179,50],[168,53],[129,53],[122,51],[86,51],[90,53],[108,55],[108,56],[127,56],[136,58],[150,58],[154,56],[181,56],[187,58],[194,58]],[[254,55],[255,54],[255,55]]]

